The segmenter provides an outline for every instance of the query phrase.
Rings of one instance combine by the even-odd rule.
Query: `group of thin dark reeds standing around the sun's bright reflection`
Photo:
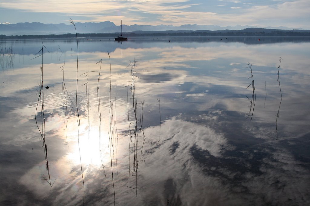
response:
[[[80,160],[80,169],[81,169],[81,177],[82,177],[82,183],[83,183],[83,205],[85,202],[85,182],[84,182],[84,175],[83,175],[83,166],[82,166],[82,157],[81,157],[81,149],[80,149],[80,116],[79,116],[79,105],[78,105],[78,81],[79,76],[83,76],[86,78],[86,83],[82,86],[86,85],[86,110],[87,110],[87,117],[88,117],[88,138],[89,138],[89,128],[90,128],[90,108],[89,108],[89,73],[90,72],[97,72],[97,71],[89,71],[87,69],[87,72],[79,75],[79,45],[78,45],[78,35],[76,26],[72,19],[70,19],[70,23],[73,24],[76,32],[76,42],[77,42],[77,62],[76,62],[76,88],[75,88],[75,102],[70,97],[69,92],[66,88],[65,80],[64,80],[64,73],[65,73],[65,63],[62,67],[60,67],[62,71],[62,95],[63,95],[63,113],[64,113],[64,124],[65,124],[65,131],[66,131],[66,143],[69,148],[68,138],[67,138],[67,126],[69,122],[69,118],[72,115],[72,110],[74,105],[76,106],[76,112],[77,112],[77,139],[78,139],[78,152],[79,152],[79,160]],[[43,42],[42,42],[43,45]],[[43,48],[46,49],[46,47],[43,45],[42,49],[37,53],[38,55],[35,58],[42,56],[42,67],[40,66],[41,76],[40,76],[40,84],[39,84],[39,97],[38,97],[38,103],[36,108],[36,123],[38,130],[41,135],[41,139],[43,142],[42,148],[44,148],[45,151],[45,160],[46,160],[46,167],[48,172],[48,177],[44,178],[49,185],[52,187],[51,182],[51,175],[50,175],[50,169],[48,164],[48,153],[47,153],[47,144],[46,144],[46,137],[45,137],[45,117],[44,117],[44,88],[43,88]],[[60,49],[60,47],[59,47]],[[61,49],[60,49],[61,51]],[[61,51],[62,56],[63,52]],[[110,54],[108,53],[109,57],[109,66],[110,66],[110,88],[109,88],[109,95],[108,95],[108,108],[109,108],[109,129],[108,129],[108,135],[109,135],[109,143],[108,146],[110,148],[110,160],[111,160],[111,174],[112,174],[112,184],[113,184],[113,193],[114,193],[114,205],[115,205],[115,186],[114,186],[114,175],[115,175],[115,168],[116,168],[116,174],[117,172],[117,145],[118,145],[118,132],[117,132],[117,124],[116,124],[116,97],[112,97],[111,88],[112,88],[112,69],[111,69],[111,60],[110,60]],[[60,60],[60,58],[59,58]],[[102,157],[102,141],[101,141],[101,102],[100,102],[100,79],[101,79],[101,67],[102,67],[102,59],[96,63],[99,65],[99,74],[98,74],[98,83],[97,83],[97,106],[98,106],[98,117],[99,117],[99,149],[100,149],[100,157],[101,157],[101,166],[100,172],[104,174],[105,177],[107,177],[106,171],[105,171],[105,165],[103,162]],[[145,134],[144,134],[144,117],[143,117],[143,109],[144,109],[144,101],[141,102],[141,107],[139,108],[138,100],[135,95],[135,78],[137,77],[137,72],[135,71],[136,67],[136,60],[133,62],[130,62],[130,68],[131,68],[131,81],[130,84],[127,85],[127,105],[128,105],[128,124],[129,124],[129,173],[130,176],[135,177],[135,186],[129,187],[135,191],[135,194],[137,195],[137,182],[138,182],[138,165],[139,162],[145,161],[144,159],[144,143],[145,143]],[[131,93],[131,97],[129,97],[129,89]],[[159,115],[160,115],[160,124],[161,124],[161,111],[160,111],[160,99],[157,99],[159,104]],[[129,103],[130,102],[130,103]],[[141,112],[138,110],[141,109]],[[133,116],[130,115],[133,114]],[[41,120],[39,120],[41,118]],[[161,127],[161,126],[160,126]],[[159,141],[160,142],[160,133],[159,132]],[[140,139],[139,139],[140,138]],[[142,140],[141,140],[142,138]],[[54,181],[55,182],[55,181]],[[127,186],[128,187],[128,186]]]

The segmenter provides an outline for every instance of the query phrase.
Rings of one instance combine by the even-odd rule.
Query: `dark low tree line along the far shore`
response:
[[[266,32],[267,31],[267,32]],[[248,31],[244,30],[223,30],[223,31],[162,31],[162,32],[123,32],[123,36],[310,36],[309,30],[277,30],[271,29],[266,31]],[[98,38],[98,37],[112,37],[119,35],[119,33],[78,33],[81,38]],[[44,35],[0,35],[0,39],[45,39],[45,38],[75,38],[75,34],[44,34]]]

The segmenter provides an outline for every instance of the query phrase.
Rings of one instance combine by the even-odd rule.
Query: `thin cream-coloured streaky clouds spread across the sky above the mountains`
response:
[[[227,2],[227,1],[226,1]],[[170,1],[10,1],[2,2],[2,8],[20,9],[30,12],[63,13],[67,16],[76,16],[76,21],[115,21],[126,19],[126,24],[217,24],[227,26],[233,24],[248,24],[257,26],[289,26],[305,27],[309,19],[309,1],[296,0],[290,2],[275,2],[274,4],[256,3],[248,4],[246,8],[232,6],[241,1],[228,1],[232,10],[229,11],[224,4],[206,6],[204,3],[192,4],[187,0]],[[194,11],[194,8],[206,7],[204,12]],[[83,18],[79,18],[83,17]],[[152,16],[152,18],[150,18]],[[87,19],[85,20],[85,17]],[[150,19],[152,19],[150,21]],[[300,20],[302,19],[302,20]]]

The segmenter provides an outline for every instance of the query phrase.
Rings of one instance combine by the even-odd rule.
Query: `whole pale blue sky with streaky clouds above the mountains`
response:
[[[0,23],[112,21],[310,29],[309,0],[0,0]]]

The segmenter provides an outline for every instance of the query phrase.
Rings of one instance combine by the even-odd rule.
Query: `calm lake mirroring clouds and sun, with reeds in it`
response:
[[[1,204],[309,205],[309,56],[309,37],[0,41]]]

